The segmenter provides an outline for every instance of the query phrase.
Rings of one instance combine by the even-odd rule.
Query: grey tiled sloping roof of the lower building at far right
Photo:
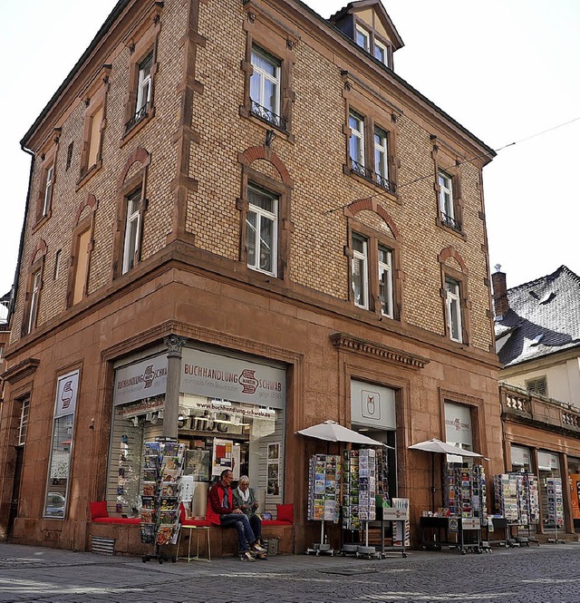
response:
[[[520,363],[580,347],[580,277],[565,266],[546,277],[507,289],[509,310],[496,320],[496,337],[507,336],[500,362]]]

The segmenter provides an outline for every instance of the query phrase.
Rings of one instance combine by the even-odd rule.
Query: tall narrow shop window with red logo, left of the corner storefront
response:
[[[66,514],[73,460],[74,415],[79,371],[58,379],[54,403],[53,436],[44,498],[44,517],[63,520]]]

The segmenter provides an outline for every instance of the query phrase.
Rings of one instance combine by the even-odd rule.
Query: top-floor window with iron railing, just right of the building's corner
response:
[[[251,111],[266,122],[285,129],[285,120],[280,117],[280,64],[271,54],[252,46]]]

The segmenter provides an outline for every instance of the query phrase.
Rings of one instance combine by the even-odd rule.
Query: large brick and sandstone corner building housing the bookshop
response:
[[[2,537],[83,550],[99,525],[143,550],[89,502],[131,515],[158,435],[189,446],[196,514],[236,459],[263,508],[294,503],[296,551],[319,533],[308,458],[339,450],[295,434],[314,423],[391,443],[413,540],[431,463],[409,445],[502,470],[494,151],[392,71],[401,45],[378,0],[330,20],[298,0],[119,2],[22,141]]]

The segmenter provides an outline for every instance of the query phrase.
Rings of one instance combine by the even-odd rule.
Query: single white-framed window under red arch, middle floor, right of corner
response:
[[[248,186],[246,217],[247,267],[276,276],[278,246],[278,197]]]

